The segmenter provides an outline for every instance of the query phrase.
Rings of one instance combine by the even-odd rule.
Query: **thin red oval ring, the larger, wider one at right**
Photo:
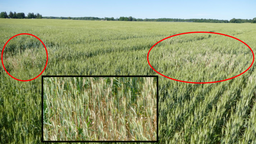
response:
[[[240,40],[240,39],[238,39],[238,38],[229,36],[229,35],[225,35],[225,34],[221,34],[221,33],[214,33],[214,32],[187,32],[187,33],[180,33],[180,34],[176,34],[176,35],[173,35],[173,36],[169,36],[169,37],[166,37],[166,38],[164,38],[164,39],[158,41],[156,44],[154,44],[154,45],[151,47],[150,51],[153,49],[153,47],[154,47],[155,45],[157,45],[159,42],[161,42],[161,41],[163,41],[163,40],[165,40],[165,39],[167,39],[167,38],[174,37],[174,36],[178,36],[178,35],[191,34],[191,33],[210,33],[210,34],[218,34],[218,35],[228,36],[228,37],[231,37],[231,38],[236,39],[236,40],[238,40],[238,41],[241,41],[241,42],[244,43],[247,47],[249,47],[249,49],[251,50],[251,47],[250,47],[249,45],[247,45],[245,42],[243,42],[242,40]],[[148,56],[150,55],[150,51],[148,51],[148,53],[147,53],[147,62],[148,62],[148,64],[151,66],[150,61],[148,60]],[[178,82],[195,83],[195,84],[218,83],[218,82],[223,82],[223,81],[227,81],[227,80],[236,78],[236,77],[238,77],[238,76],[244,74],[247,70],[249,70],[249,69],[251,68],[253,62],[254,62],[254,53],[253,53],[252,50],[251,50],[251,53],[252,53],[252,56],[253,56],[252,63],[251,63],[251,65],[250,65],[243,73],[241,73],[241,74],[239,74],[239,75],[237,75],[237,76],[234,76],[234,77],[232,77],[232,78],[229,78],[229,79],[225,79],[225,80],[221,80],[221,81],[215,81],[215,82],[187,82],[187,81],[176,80],[176,79],[169,78],[169,77],[167,77],[167,76],[162,75],[162,74],[159,73],[156,69],[154,69],[152,66],[151,66],[151,68],[152,68],[153,70],[155,70],[155,71],[156,71],[158,74],[160,74],[161,76],[163,76],[163,77],[165,77],[165,78],[168,78],[168,79],[171,79],[171,80],[178,81]]]

